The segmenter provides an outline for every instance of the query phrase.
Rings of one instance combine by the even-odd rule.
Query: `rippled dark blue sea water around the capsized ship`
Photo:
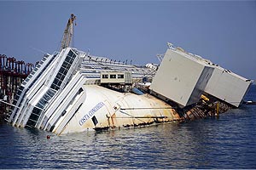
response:
[[[255,85],[246,99],[256,100]],[[61,137],[0,124],[0,168],[256,168],[256,105],[219,119]]]

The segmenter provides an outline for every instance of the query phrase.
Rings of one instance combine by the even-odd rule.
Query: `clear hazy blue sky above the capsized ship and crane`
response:
[[[0,1],[0,54],[53,53],[72,13],[74,47],[90,54],[158,63],[172,42],[256,79],[256,1]]]

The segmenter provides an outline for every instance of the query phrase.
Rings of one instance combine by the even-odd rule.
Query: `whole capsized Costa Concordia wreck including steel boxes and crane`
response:
[[[169,42],[160,65],[138,66],[69,48],[66,33],[21,83],[9,124],[61,135],[184,122],[239,107],[253,83]]]

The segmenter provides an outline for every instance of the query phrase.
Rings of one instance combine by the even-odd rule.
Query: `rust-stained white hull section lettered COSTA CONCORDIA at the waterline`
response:
[[[170,105],[149,94],[119,93],[97,85],[84,85],[83,88],[83,105],[69,122],[67,120],[70,113],[61,117],[55,124],[53,133],[76,133],[97,128],[137,127],[180,119]],[[65,122],[65,125],[62,122]]]

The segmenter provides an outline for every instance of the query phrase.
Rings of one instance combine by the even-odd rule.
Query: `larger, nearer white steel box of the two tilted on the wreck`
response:
[[[181,106],[191,105],[200,99],[212,71],[189,55],[168,49],[150,89]]]

